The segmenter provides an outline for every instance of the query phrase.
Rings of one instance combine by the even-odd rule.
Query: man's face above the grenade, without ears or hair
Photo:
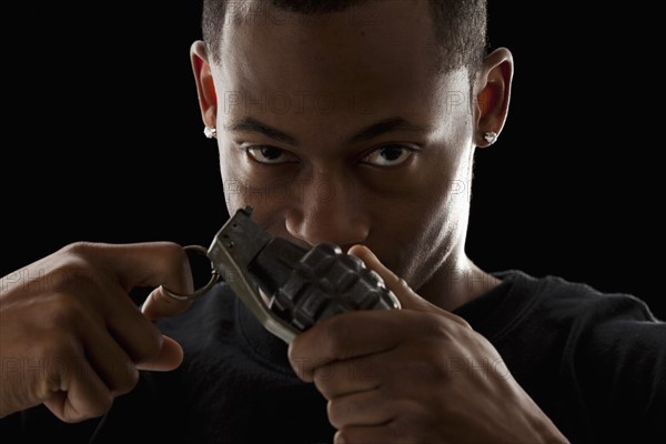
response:
[[[261,3],[261,2],[259,2]],[[367,245],[418,289],[463,254],[467,71],[437,74],[427,2],[245,13],[212,67],[230,214],[302,245]]]

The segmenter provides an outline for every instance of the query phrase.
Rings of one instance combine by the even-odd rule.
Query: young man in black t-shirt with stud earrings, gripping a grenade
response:
[[[513,77],[508,50],[485,53],[485,20],[482,0],[206,0],[191,60],[229,213],[339,244],[402,309],[287,346],[226,284],[167,297],[193,291],[179,245],[72,244],[2,281],[2,436],[663,438],[666,324],[635,297],[465,254],[460,184],[502,132]],[[141,311],[139,285],[157,286]]]

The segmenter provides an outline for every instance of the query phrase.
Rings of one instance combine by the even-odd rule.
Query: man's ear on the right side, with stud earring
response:
[[[513,56],[506,48],[497,48],[484,59],[475,88],[474,143],[477,147],[493,144],[504,128],[513,71]]]

